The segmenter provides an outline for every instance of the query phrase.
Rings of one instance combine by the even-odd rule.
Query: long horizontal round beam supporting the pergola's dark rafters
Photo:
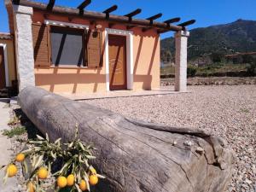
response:
[[[23,6],[28,6],[28,7],[32,7],[34,9],[38,9],[38,10],[42,10],[42,11],[46,11],[47,10],[47,4],[45,3],[38,3],[38,2],[32,2],[32,1],[27,1],[27,0],[20,0],[20,5]],[[64,15],[64,16],[80,16],[80,17],[84,17],[88,20],[106,20],[106,14],[104,13],[99,13],[99,12],[93,12],[93,11],[84,11],[83,14],[81,15],[79,13],[78,9],[73,9],[73,8],[63,8],[60,6],[54,6],[54,8],[51,10],[52,14],[56,14],[56,15]],[[119,23],[122,25],[126,25],[126,26],[141,26],[141,27],[154,27],[157,29],[165,29],[165,30],[169,30],[169,31],[174,31],[174,32],[178,32],[181,31],[183,28],[182,26],[173,26],[173,25],[168,25],[164,22],[158,22],[158,21],[154,21],[153,25],[150,25],[150,20],[142,20],[142,19],[132,19],[130,20],[128,17],[126,16],[121,16],[121,15],[109,15],[109,21],[113,22],[113,23]]]

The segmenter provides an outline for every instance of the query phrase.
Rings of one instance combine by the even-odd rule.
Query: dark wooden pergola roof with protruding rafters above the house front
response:
[[[32,7],[33,9],[44,10],[54,14],[80,16],[90,20],[108,20],[111,24],[110,26],[113,26],[114,24],[125,24],[127,29],[141,26],[143,27],[143,32],[146,32],[151,28],[157,29],[159,33],[169,31],[178,32],[186,30],[186,26],[195,23],[195,20],[189,20],[177,25],[172,24],[174,22],[178,22],[180,18],[172,18],[164,22],[156,21],[156,19],[159,19],[162,14],[153,15],[147,19],[134,18],[135,15],[138,15],[142,12],[142,9],[136,9],[126,15],[110,15],[110,13],[112,13],[114,10],[118,9],[117,5],[113,5],[112,7],[104,10],[102,13],[84,10],[91,3],[91,0],[85,0],[84,2],[80,3],[77,8],[56,6],[55,0],[49,0],[48,4],[32,2],[28,0],[13,0],[13,3]]]

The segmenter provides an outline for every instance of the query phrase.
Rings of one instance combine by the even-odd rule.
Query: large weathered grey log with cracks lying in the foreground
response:
[[[97,191],[218,192],[230,181],[233,155],[220,137],[126,119],[36,87],[18,101],[52,140],[71,140],[79,125],[81,140],[97,148],[92,164],[107,176]]]

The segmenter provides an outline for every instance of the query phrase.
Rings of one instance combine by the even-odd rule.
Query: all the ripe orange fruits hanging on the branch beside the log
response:
[[[17,162],[22,162],[25,160],[25,154],[17,154],[15,160]],[[8,177],[14,177],[18,172],[17,166],[15,164],[9,164],[7,167],[7,174]],[[45,167],[40,167],[38,169],[38,178],[39,179],[46,179],[48,177],[48,170]],[[57,178],[57,185],[59,188],[65,188],[66,186],[72,187],[75,183],[75,177],[73,174],[68,175],[67,177],[60,176]],[[96,185],[98,183],[98,177],[96,170],[94,168],[90,168],[90,176],[89,176],[89,183],[90,185]],[[87,183],[84,181],[84,179],[81,179],[79,183],[79,188],[84,191],[89,189],[87,186]],[[32,182],[27,183],[27,189],[29,192],[34,192],[35,187]]]

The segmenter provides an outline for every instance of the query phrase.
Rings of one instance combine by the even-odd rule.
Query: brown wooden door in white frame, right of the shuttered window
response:
[[[109,90],[126,89],[126,38],[108,35]]]

